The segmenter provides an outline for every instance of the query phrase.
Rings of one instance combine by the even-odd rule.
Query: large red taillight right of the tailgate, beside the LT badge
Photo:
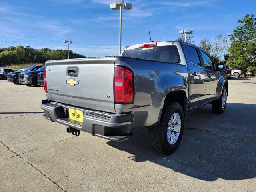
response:
[[[116,103],[127,104],[133,102],[133,75],[128,68],[115,67],[114,93]]]

